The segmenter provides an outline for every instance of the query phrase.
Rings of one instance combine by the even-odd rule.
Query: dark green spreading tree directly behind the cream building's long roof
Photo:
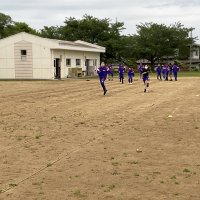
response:
[[[122,52],[125,42],[120,33],[124,29],[123,22],[111,23],[110,19],[98,19],[90,15],[84,15],[82,19],[74,17],[66,18],[64,25],[60,27],[44,27],[41,36],[57,38],[69,41],[83,40],[106,47],[106,53],[101,57],[105,62],[122,62]]]

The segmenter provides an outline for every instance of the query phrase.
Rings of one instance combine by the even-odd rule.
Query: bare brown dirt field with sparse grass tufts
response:
[[[0,82],[0,200],[199,200],[200,78]]]

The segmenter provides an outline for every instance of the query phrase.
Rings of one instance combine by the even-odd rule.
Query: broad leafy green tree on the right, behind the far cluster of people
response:
[[[195,38],[189,38],[191,28],[184,28],[181,23],[166,26],[164,24],[145,23],[137,28],[138,55],[154,63],[163,57],[176,56],[177,50],[187,47]],[[181,55],[183,52],[179,52]],[[186,53],[186,52],[185,52]]]

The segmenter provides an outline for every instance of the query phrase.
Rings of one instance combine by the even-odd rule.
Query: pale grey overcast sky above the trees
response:
[[[181,22],[195,28],[193,36],[200,39],[200,0],[0,0],[0,12],[37,30],[84,14],[124,22],[123,34],[135,34],[136,25],[144,22]]]

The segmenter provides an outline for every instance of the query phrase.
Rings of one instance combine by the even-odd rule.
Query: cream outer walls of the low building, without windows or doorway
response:
[[[72,48],[66,50],[63,48]],[[20,33],[0,40],[0,78],[33,78],[54,79],[54,59],[59,58],[61,78],[66,78],[69,68],[80,67],[85,70],[85,60],[97,60],[100,64],[100,53],[76,50],[77,46],[59,45],[57,40],[40,38],[27,33]],[[21,60],[21,50],[27,50],[27,62]],[[93,51],[91,49],[91,51]],[[94,51],[98,51],[95,50]],[[71,65],[66,65],[66,59],[71,59]],[[76,65],[80,59],[80,66]],[[92,63],[92,62],[91,62]],[[93,69],[92,69],[93,70]]]

